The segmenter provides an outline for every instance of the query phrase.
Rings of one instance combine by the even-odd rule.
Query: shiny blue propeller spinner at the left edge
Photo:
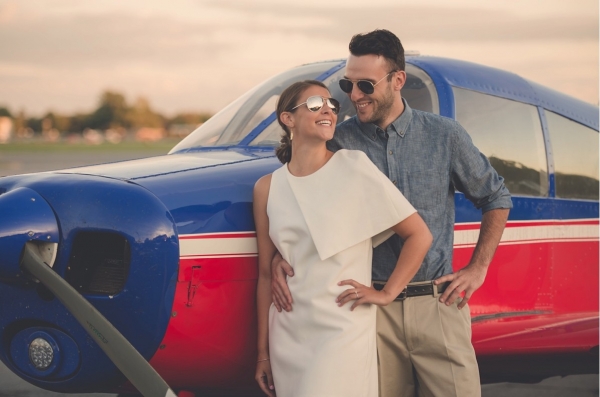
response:
[[[42,196],[21,187],[0,195],[0,280],[26,281],[19,261],[28,241],[35,243],[52,266],[59,241],[56,217]]]

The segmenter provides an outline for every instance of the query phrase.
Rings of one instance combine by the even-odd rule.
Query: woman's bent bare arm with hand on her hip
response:
[[[347,289],[338,296],[338,306],[343,306],[351,300],[354,300],[351,310],[363,303],[386,306],[402,292],[417,273],[433,241],[429,228],[421,216],[414,213],[392,227],[392,230],[404,240],[404,245],[384,289],[377,291],[354,280],[341,281],[339,285],[350,285],[354,288]]]

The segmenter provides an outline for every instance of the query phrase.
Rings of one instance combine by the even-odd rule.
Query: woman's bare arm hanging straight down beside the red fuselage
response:
[[[270,397],[275,397],[271,363],[269,361],[269,307],[271,306],[271,260],[276,249],[269,237],[267,201],[271,186],[271,174],[260,178],[254,185],[254,223],[258,246],[258,285],[256,288],[256,312],[258,315],[258,357],[255,379]]]

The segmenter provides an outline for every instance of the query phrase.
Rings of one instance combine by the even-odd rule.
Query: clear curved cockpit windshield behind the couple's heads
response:
[[[329,61],[299,66],[265,81],[211,117],[169,153],[240,144],[257,147],[277,146],[282,130],[273,113],[281,92],[293,82],[314,79],[335,68],[340,62]],[[340,68],[323,81],[331,96],[340,101],[338,123],[355,114],[348,95],[339,88],[338,81],[343,77],[344,70]],[[439,101],[431,78],[410,64],[406,65],[406,73],[407,81],[402,89],[403,98],[414,109],[439,114]],[[249,136],[250,133],[253,137]]]

